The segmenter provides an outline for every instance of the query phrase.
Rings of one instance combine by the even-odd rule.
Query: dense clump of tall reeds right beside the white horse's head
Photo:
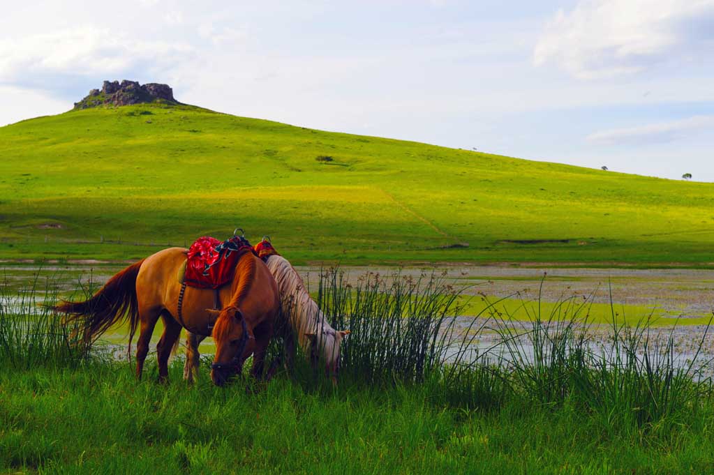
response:
[[[433,274],[413,280],[369,272],[353,287],[331,268],[318,284],[318,305],[331,325],[351,330],[341,348],[342,371],[370,382],[423,382],[438,370],[457,296]]]

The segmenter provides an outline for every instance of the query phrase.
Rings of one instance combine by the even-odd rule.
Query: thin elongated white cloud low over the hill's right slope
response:
[[[714,116],[693,116],[680,121],[600,131],[590,134],[587,140],[600,145],[641,145],[689,138],[703,131],[714,133]]]

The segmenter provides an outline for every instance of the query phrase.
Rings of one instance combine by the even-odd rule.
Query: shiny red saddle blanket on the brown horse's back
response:
[[[188,260],[183,282],[199,289],[217,289],[233,279],[238,259],[254,252],[251,243],[242,236],[223,242],[215,237],[199,237],[188,248]]]

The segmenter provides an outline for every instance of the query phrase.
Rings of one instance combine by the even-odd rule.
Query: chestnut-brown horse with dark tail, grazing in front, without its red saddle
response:
[[[220,386],[231,374],[240,372],[250,354],[253,354],[253,376],[259,377],[263,373],[268,342],[273,336],[273,322],[280,311],[278,289],[271,272],[252,252],[242,255],[233,280],[221,287],[219,300],[224,308],[216,320],[218,312],[208,310],[214,305],[210,289],[186,287],[181,315],[178,315],[181,283],[177,275],[184,262],[186,249],[161,250],[111,277],[89,300],[63,302],[56,310],[84,323],[86,341],[96,340],[126,315],[130,348],[139,327],[136,343],[136,377],[139,379],[159,317],[164,322],[164,334],[156,345],[160,380],[169,375],[169,355],[176,347],[181,326],[191,333],[209,336],[214,323],[213,383]]]

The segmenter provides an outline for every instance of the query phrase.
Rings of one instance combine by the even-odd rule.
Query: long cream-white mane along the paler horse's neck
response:
[[[267,265],[278,284],[283,311],[289,309],[291,326],[298,332],[301,347],[304,349],[308,343],[304,336],[306,332],[327,333],[334,336],[333,328],[327,322],[320,307],[310,297],[302,278],[290,262],[280,255],[271,255]]]

